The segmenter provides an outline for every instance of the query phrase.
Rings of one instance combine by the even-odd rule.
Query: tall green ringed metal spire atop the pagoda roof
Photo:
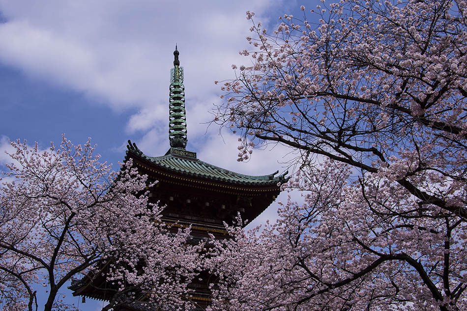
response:
[[[185,149],[187,142],[185,86],[183,86],[183,67],[180,67],[178,55],[175,45],[174,68],[170,70],[169,141],[171,147]]]

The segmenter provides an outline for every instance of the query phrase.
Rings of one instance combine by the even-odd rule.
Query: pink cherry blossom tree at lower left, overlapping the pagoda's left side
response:
[[[189,305],[197,253],[189,230],[168,234],[161,207],[148,206],[146,176],[131,161],[114,172],[95,146],[63,137],[40,151],[10,142],[12,163],[0,188],[0,304],[3,310],[65,310],[60,290],[81,274],[103,277],[110,304],[146,295],[162,310]],[[92,286],[92,284],[91,284]]]

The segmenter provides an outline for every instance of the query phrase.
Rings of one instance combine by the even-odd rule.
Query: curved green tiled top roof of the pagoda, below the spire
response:
[[[161,157],[149,157],[146,156],[135,143],[131,143],[131,141],[128,141],[128,143],[127,157],[129,153],[133,153],[156,167],[184,175],[252,186],[270,186],[277,185],[278,183],[283,184],[289,179],[285,177],[288,171],[277,176],[276,174],[279,171],[263,176],[251,176],[236,173],[231,170],[222,169],[203,162],[196,158],[196,153],[179,148],[171,148],[166,155]]]

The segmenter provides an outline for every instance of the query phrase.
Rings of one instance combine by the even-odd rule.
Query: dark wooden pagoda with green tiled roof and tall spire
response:
[[[143,153],[135,143],[128,141],[125,161],[130,159],[148,181],[158,181],[150,190],[150,203],[164,206],[162,221],[176,227],[191,226],[191,243],[214,236],[227,239],[224,222],[234,224],[238,214],[243,220],[252,221],[279,195],[280,185],[288,180],[287,172],[278,171],[263,176],[251,176],[233,172],[201,161],[196,152],[186,149],[187,127],[183,67],[175,47],[174,67],[170,74],[169,141],[165,155],[151,157]],[[246,223],[245,223],[246,225]],[[208,275],[201,275],[192,284],[192,299],[200,310],[210,301]],[[101,280],[105,282],[105,280]],[[93,281],[95,282],[95,281]],[[73,295],[105,300],[105,293],[95,291],[86,282],[73,284]],[[146,310],[144,304],[134,302],[121,306],[121,311]],[[198,308],[197,308],[198,309]]]

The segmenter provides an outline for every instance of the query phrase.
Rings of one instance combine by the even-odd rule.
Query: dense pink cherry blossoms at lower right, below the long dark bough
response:
[[[326,160],[289,182],[304,202],[289,199],[275,224],[229,227],[233,239],[205,260],[219,277],[209,310],[466,310],[466,222],[435,204],[420,211],[377,174],[351,179]]]

